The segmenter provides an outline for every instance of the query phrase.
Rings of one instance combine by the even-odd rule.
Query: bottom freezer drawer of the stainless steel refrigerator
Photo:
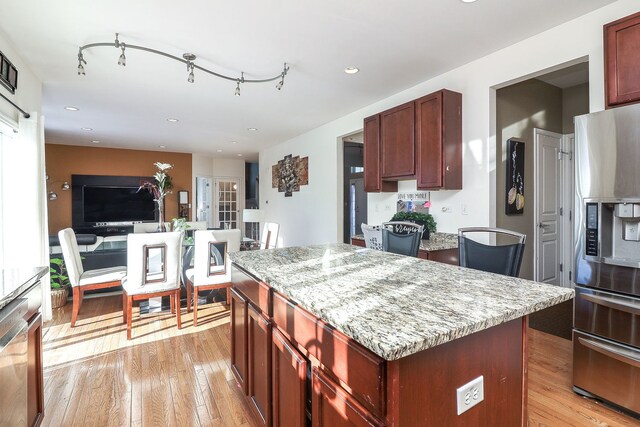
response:
[[[573,384],[576,387],[640,413],[638,378],[638,349],[573,332]]]

